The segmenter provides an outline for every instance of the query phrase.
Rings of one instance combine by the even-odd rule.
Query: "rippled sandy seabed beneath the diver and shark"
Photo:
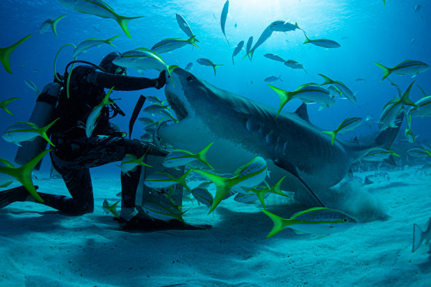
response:
[[[389,174],[361,187],[387,220],[324,238],[285,229],[268,239],[273,224],[261,205],[232,198],[213,215],[196,203],[185,213],[210,230],[120,231],[101,208],[119,199],[120,179],[93,177],[95,213],[22,202],[0,210],[0,286],[431,286],[430,246],[412,253],[413,224],[424,228],[431,216],[431,176],[414,167]],[[62,179],[39,175],[35,184],[67,195]],[[284,218],[303,208],[277,195],[266,202]]]

